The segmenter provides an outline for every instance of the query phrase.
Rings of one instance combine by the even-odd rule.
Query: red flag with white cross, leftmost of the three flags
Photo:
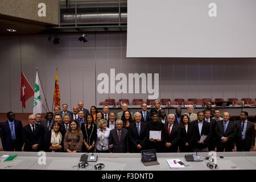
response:
[[[30,85],[30,82],[27,81],[26,76],[21,72],[20,77],[20,101],[22,101],[22,107],[26,108],[26,101],[28,98],[34,96],[34,90]]]

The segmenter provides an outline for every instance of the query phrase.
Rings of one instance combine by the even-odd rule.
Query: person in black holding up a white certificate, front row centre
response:
[[[149,131],[148,149],[155,149],[156,152],[163,151],[164,124],[158,121],[158,113],[151,113],[151,122],[147,122]]]

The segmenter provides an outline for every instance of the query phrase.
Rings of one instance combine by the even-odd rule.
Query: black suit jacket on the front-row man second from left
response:
[[[40,151],[43,148],[44,128],[41,125],[35,124],[35,132],[32,132],[30,124],[23,127],[24,151]],[[37,150],[33,150],[32,146],[39,144]]]

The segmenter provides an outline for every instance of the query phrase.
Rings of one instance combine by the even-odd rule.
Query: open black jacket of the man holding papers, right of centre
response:
[[[208,121],[203,121],[203,126],[201,130],[201,135],[199,133],[198,120],[191,122],[191,125],[195,127],[195,146],[197,148],[206,148],[210,141],[210,123]],[[204,144],[199,144],[201,136],[207,136],[204,140]]]

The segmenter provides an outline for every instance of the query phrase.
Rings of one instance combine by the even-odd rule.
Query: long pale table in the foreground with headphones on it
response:
[[[82,153],[64,153],[64,152],[45,152],[42,160],[42,154],[38,152],[0,152],[0,156],[18,155],[13,162],[3,162],[1,158],[0,170],[5,169],[23,169],[23,170],[47,170],[47,171],[95,171],[95,164],[103,163],[105,167],[101,171],[209,171],[209,170],[256,170],[256,152],[214,152],[216,155],[216,164],[218,168],[210,169],[207,167],[209,156],[208,152],[200,152],[203,161],[187,162],[185,154],[195,153],[157,153],[159,165],[144,166],[141,162],[141,154],[137,153],[94,153],[98,155],[97,162],[89,162],[86,168],[79,168],[78,164]],[[221,156],[221,158],[220,158]],[[222,158],[223,157],[223,158]],[[184,163],[184,168],[171,168],[167,159],[179,159]],[[44,163],[45,162],[45,163]],[[9,171],[8,170],[8,171]]]

